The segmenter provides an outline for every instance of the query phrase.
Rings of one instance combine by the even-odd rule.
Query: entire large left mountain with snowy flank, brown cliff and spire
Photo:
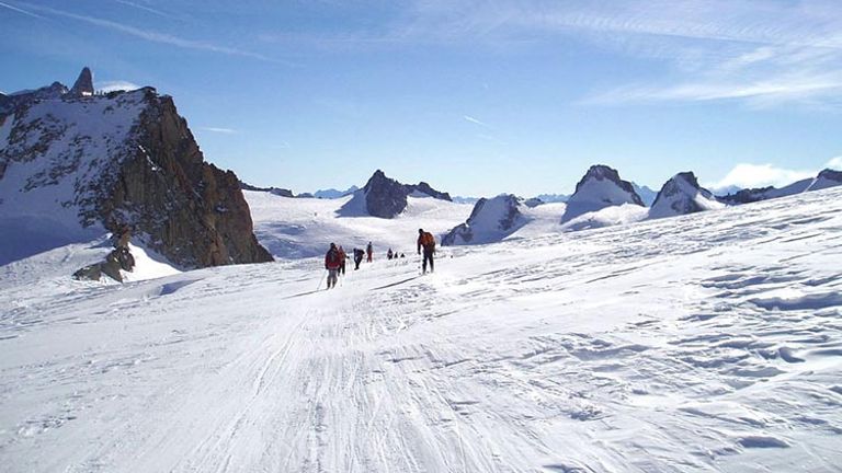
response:
[[[5,114],[0,218],[27,208],[129,229],[182,267],[272,261],[239,180],[204,161],[172,97],[152,88],[90,95],[90,79],[82,71],[70,92],[19,100]]]

